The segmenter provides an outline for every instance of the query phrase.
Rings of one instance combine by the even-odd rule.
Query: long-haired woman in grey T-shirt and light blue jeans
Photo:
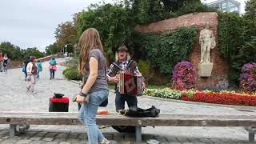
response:
[[[103,54],[102,42],[98,31],[94,28],[84,31],[79,39],[80,58],[79,74],[83,75],[83,86],[75,98],[89,97],[83,101],[78,119],[86,126],[90,144],[109,144],[96,125],[98,106],[106,100],[109,91],[106,82],[106,58]],[[78,102],[78,101],[77,101]]]

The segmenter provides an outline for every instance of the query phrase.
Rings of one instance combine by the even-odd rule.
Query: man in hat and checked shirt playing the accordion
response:
[[[116,86],[116,92],[115,92],[115,108],[116,110],[122,110],[125,108],[125,102],[127,102],[127,105],[129,106],[129,109],[137,110],[137,97],[131,96],[129,94],[120,94],[118,91],[118,72],[119,71],[125,71],[130,72],[134,75],[141,75],[142,74],[138,70],[137,62],[130,59],[130,54],[128,52],[128,49],[126,46],[120,46],[118,48],[118,52],[115,55],[116,61],[113,62],[110,65],[110,69],[107,72],[107,78],[110,82],[114,82]],[[142,88],[145,87],[145,81],[144,78],[142,80]]]

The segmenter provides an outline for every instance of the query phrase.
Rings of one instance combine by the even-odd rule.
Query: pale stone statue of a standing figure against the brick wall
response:
[[[210,49],[214,49],[216,46],[214,31],[209,29],[209,22],[206,23],[206,27],[200,31],[199,43],[201,45],[201,61],[210,62]]]

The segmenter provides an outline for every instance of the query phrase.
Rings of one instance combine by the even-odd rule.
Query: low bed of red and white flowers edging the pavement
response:
[[[223,105],[256,106],[256,94],[241,91],[214,92],[211,90],[146,89],[145,94],[160,98],[181,99],[192,102],[206,102]]]

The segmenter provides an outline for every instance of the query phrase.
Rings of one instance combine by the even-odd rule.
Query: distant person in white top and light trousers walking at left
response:
[[[27,91],[31,91],[32,93],[36,94],[37,92],[34,90],[35,85],[35,77],[37,75],[38,67],[35,64],[36,58],[32,57],[30,59],[30,63],[26,66],[26,72],[28,74],[28,80],[30,81],[29,84],[26,86]]]

